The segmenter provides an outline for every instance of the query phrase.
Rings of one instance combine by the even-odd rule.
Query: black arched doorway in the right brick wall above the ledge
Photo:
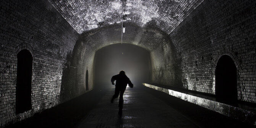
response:
[[[219,58],[215,69],[216,100],[227,104],[237,102],[237,67],[228,55]]]

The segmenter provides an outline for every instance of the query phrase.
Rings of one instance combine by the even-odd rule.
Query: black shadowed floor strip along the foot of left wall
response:
[[[51,109],[36,113],[33,117],[9,125],[7,128],[72,128],[97,105],[105,92],[105,90],[93,89]]]

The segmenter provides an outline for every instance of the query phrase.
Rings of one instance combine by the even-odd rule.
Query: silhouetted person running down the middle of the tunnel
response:
[[[114,81],[116,81],[114,83]],[[123,93],[125,92],[127,84],[129,84],[129,87],[133,88],[133,84],[131,83],[130,79],[125,75],[125,71],[120,71],[118,75],[112,76],[111,82],[113,85],[115,85],[115,94],[111,99],[111,103],[114,102],[114,99],[119,97],[119,111],[118,114],[122,115],[122,109],[123,109]]]

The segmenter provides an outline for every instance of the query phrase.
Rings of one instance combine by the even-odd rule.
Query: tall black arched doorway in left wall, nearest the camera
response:
[[[16,114],[32,109],[31,81],[33,57],[29,50],[21,50],[18,55],[16,83]]]

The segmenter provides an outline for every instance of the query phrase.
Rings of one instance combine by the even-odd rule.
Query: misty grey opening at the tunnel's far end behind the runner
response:
[[[134,87],[150,82],[150,53],[133,44],[112,44],[97,50],[94,60],[94,84],[104,88],[113,86],[110,79],[121,70]]]

